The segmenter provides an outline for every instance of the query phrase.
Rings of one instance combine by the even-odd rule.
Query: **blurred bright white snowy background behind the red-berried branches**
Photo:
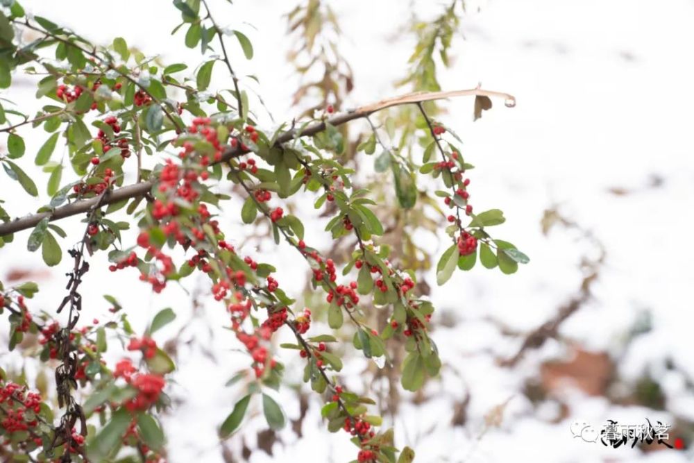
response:
[[[211,2],[222,26],[239,28],[251,37],[255,59],[244,60],[240,49],[232,46],[232,60],[239,74],[260,78],[260,85],[252,81],[244,81],[244,85],[262,94],[277,120],[289,120],[298,113],[291,108],[298,78],[285,62],[289,43],[283,18],[294,3],[238,0],[229,6],[221,0]],[[426,18],[443,8],[443,3],[433,0],[330,3],[341,21],[339,45],[355,72],[352,106],[398,92],[393,81],[405,74],[414,37],[396,32],[407,24],[413,10]],[[201,61],[198,51],[183,46],[182,32],[171,37],[180,15],[168,1],[25,0],[23,4],[28,12],[67,24],[94,42],[108,44],[113,37],[122,36],[131,46],[158,54],[165,62],[187,62],[192,68]],[[457,271],[446,286],[433,289],[432,300],[441,309],[439,317],[446,312],[461,323],[433,333],[446,373],[442,380],[428,383],[426,393],[431,400],[419,407],[403,404],[393,423],[397,444],[412,446],[421,463],[691,461],[693,454],[688,451],[644,454],[637,449],[588,444],[573,438],[570,423],[581,420],[599,426],[606,419],[617,419],[640,424],[646,417],[666,423],[677,417],[694,420],[694,398],[686,389],[687,379],[694,378],[694,247],[689,235],[689,208],[694,206],[694,92],[690,87],[694,81],[694,2],[491,0],[469,1],[467,6],[468,14],[454,40],[455,61],[450,69],[439,69],[443,88],[471,88],[481,82],[486,89],[514,94],[518,105],[508,109],[495,101],[495,107],[473,124],[472,100],[456,99],[445,103],[449,111],[445,121],[464,139],[466,160],[477,166],[471,173],[475,208],[502,208],[507,222],[498,227],[496,235],[514,242],[531,262],[514,276],[481,267]],[[398,40],[393,40],[395,36]],[[221,71],[217,76],[213,85],[228,85]],[[0,96],[31,108],[35,104],[31,81],[25,82]],[[31,129],[21,133],[28,135]],[[31,153],[43,141],[30,135],[28,154],[20,163],[32,172],[37,185],[44,185],[47,174],[31,170]],[[659,187],[651,186],[654,176],[663,180]],[[613,187],[630,194],[611,194]],[[20,191],[8,177],[0,178],[3,199],[12,199]],[[45,202],[45,196],[21,204],[8,201],[6,208],[20,216]],[[548,237],[541,233],[543,210],[555,204],[567,217],[592,230],[607,248],[595,297],[564,323],[561,334],[586,350],[619,356],[619,374],[626,380],[650,371],[666,393],[666,411],[615,407],[604,398],[591,398],[568,387],[561,398],[569,405],[569,416],[551,423],[556,411],[535,410],[521,389],[527,378],[539,374],[543,360],[566,358],[570,352],[550,341],[530,352],[514,369],[496,365],[495,356],[516,352],[518,339],[500,335],[489,319],[516,330],[532,330],[555,314],[580,281],[577,264],[589,248],[559,228]],[[228,205],[228,214],[221,221],[225,230],[242,228],[234,205]],[[62,221],[61,226],[73,240],[83,228],[75,218]],[[307,242],[327,245],[322,228],[307,226]],[[17,234],[14,245],[0,249],[0,278],[9,269],[42,266],[38,253],[26,253],[27,235]],[[435,242],[427,246],[442,251]],[[296,260],[293,249],[284,244],[276,249],[266,243],[257,251],[244,251],[257,252],[276,264],[282,287],[300,296],[305,267]],[[90,284],[83,290],[83,320],[109,319],[103,293],[119,298],[140,332],[158,310],[174,308],[179,317],[157,335],[160,342],[189,320],[190,296],[184,289],[169,285],[161,295],[153,295],[132,272],[108,272],[105,255],[96,255],[91,263]],[[33,277],[42,290],[32,308],[51,310],[58,305],[68,267],[65,258],[50,273]],[[200,317],[212,326],[224,323],[219,305],[208,305]],[[641,310],[650,311],[653,329],[623,351],[620,339]],[[6,337],[6,323],[6,319],[0,320],[2,337]],[[193,342],[180,346],[176,384],[169,388],[175,399],[186,399],[163,419],[173,463],[223,461],[216,426],[241,394],[224,384],[239,365],[246,364],[246,356],[234,351],[237,344],[228,332],[210,333],[207,325],[193,322],[187,328],[184,339]],[[216,351],[219,362],[203,355],[196,343]],[[121,353],[114,351],[110,349],[109,354],[117,360]],[[296,356],[284,357],[287,380],[301,382]],[[677,370],[666,370],[666,357],[674,360]],[[0,361],[21,360],[0,351]],[[361,387],[362,366],[361,359],[346,364],[342,377],[348,378],[348,387]],[[471,396],[468,421],[464,427],[454,428],[450,426],[452,403],[462,401],[467,392]],[[284,388],[279,396],[289,418],[296,418],[294,392]],[[477,441],[484,429],[484,415],[509,398],[500,428],[489,430]],[[320,405],[319,398],[310,394],[303,438],[297,439],[285,429],[280,433],[284,445],[276,444],[273,457],[255,452],[250,461],[343,462],[352,458],[355,448],[344,433],[325,431]],[[265,423],[260,403],[253,402],[249,410],[255,417],[246,418],[242,434],[253,448],[255,431],[262,430]],[[237,434],[228,441],[236,451],[240,437]]]

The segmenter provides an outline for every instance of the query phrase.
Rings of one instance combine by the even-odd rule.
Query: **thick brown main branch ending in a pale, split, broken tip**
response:
[[[432,92],[432,93],[412,93],[403,96],[397,96],[396,98],[385,99],[379,101],[378,103],[372,103],[367,106],[362,106],[355,110],[349,110],[347,112],[335,115],[326,119],[325,121],[316,122],[307,126],[302,131],[296,131],[292,128],[290,131],[282,133],[277,137],[276,144],[282,144],[294,140],[297,137],[310,137],[316,135],[316,133],[325,130],[326,124],[332,126],[341,126],[342,124],[347,124],[355,119],[361,119],[363,117],[368,117],[374,112],[378,112],[385,108],[390,108],[391,106],[398,106],[409,103],[420,103],[421,101],[431,101],[434,99],[445,99],[451,96],[469,96],[469,95],[491,95],[491,96],[502,96],[509,101],[515,101],[514,97],[509,94],[498,93],[498,92],[488,92],[486,90],[473,89],[473,90],[459,90],[456,92]],[[248,153],[249,151],[244,151],[241,149],[240,145],[236,148],[228,147],[224,151],[221,160],[219,162],[228,162],[232,158],[237,158],[241,155]],[[119,201],[124,201],[125,199],[137,198],[143,196],[144,194],[150,192],[152,186],[154,185],[153,180],[149,180],[142,183],[135,183],[134,185],[128,185],[126,187],[121,187],[118,190],[113,191],[108,195],[103,201],[103,204],[118,203]],[[40,212],[39,214],[28,215],[22,217],[21,219],[16,219],[14,221],[8,221],[5,224],[0,224],[0,237],[9,235],[10,233],[15,233],[17,231],[26,230],[27,228],[33,228],[45,217],[50,217],[51,221],[64,219],[65,217],[70,217],[72,215],[81,214],[82,212],[88,212],[94,204],[99,201],[97,198],[85,199],[81,201],[76,201],[74,203],[64,205],[60,208],[56,208],[52,212]]]

